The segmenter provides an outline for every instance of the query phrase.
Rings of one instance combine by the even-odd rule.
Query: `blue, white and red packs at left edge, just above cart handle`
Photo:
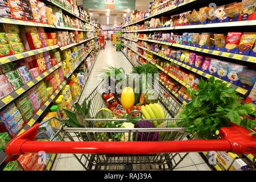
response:
[[[11,103],[0,112],[0,118],[11,137],[15,137],[19,130],[22,129],[24,121],[20,110],[14,103]]]

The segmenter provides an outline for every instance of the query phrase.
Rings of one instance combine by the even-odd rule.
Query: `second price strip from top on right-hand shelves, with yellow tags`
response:
[[[189,49],[191,51],[207,53],[209,55],[228,57],[230,59],[236,59],[236,60],[256,63],[256,57],[253,57],[253,56],[245,56],[245,55],[240,55],[240,54],[237,54],[237,53],[230,53],[230,52],[222,52],[222,51],[216,51],[216,50],[210,50],[210,49],[203,49],[203,48],[199,48],[199,47],[185,46],[185,45],[182,45],[182,44],[167,43],[167,42],[151,40],[151,39],[139,39],[138,38],[138,40],[144,40],[146,42],[153,42],[153,43],[163,44],[163,45],[172,46],[172,47],[179,47],[179,48]]]

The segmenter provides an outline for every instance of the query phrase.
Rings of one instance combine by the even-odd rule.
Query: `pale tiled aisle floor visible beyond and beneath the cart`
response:
[[[107,65],[113,65],[115,67],[123,67],[126,73],[130,73],[132,66],[127,61],[126,57],[121,51],[115,51],[115,47],[107,42],[105,49],[100,51],[96,63],[94,64],[92,73],[89,77],[87,84],[85,85],[84,92],[82,93],[80,102],[93,91],[94,88],[100,83],[98,75],[100,69]],[[82,161],[84,162],[84,161]],[[53,164],[52,170],[55,171],[81,171],[84,168],[77,161],[72,154],[61,154],[57,155],[55,163]],[[177,171],[209,171],[210,168],[205,164],[201,156],[194,152],[190,153],[176,168]]]

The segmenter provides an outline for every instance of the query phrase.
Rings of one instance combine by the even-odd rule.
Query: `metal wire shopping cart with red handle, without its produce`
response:
[[[174,118],[183,109],[179,102],[158,82],[154,83],[154,89],[159,94],[158,103],[166,113],[167,118],[162,120],[181,121],[182,123],[183,119]],[[101,95],[105,90],[105,82],[101,82],[86,98],[86,102],[92,101],[90,116],[96,115],[102,107],[106,107]],[[126,122],[127,120],[129,119],[85,119],[87,122]],[[151,121],[151,119],[144,119],[144,121]],[[191,140],[187,137],[188,133],[182,125],[171,128],[127,129],[71,128],[63,124],[53,136],[54,138],[61,135],[61,141],[51,142],[35,141],[39,126],[40,124],[36,123],[26,132],[11,140],[7,144],[6,154],[20,155],[39,151],[48,154],[69,153],[73,154],[87,170],[172,170],[188,155],[188,152],[232,151],[241,154],[256,154],[255,136],[249,136],[250,131],[235,125],[220,130],[222,139]],[[150,141],[150,138],[159,134],[158,141]],[[115,135],[121,135],[125,142],[110,141]],[[140,141],[139,135],[146,136],[146,141],[145,139]]]

